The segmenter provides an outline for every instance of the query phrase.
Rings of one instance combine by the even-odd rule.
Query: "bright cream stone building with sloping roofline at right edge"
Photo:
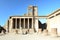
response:
[[[60,35],[60,9],[49,14],[47,18],[48,31]]]

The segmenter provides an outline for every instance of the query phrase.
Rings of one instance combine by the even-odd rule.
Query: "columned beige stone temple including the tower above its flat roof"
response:
[[[38,32],[38,29],[41,26],[41,24],[39,24],[39,18],[47,18],[47,16],[38,16],[38,7],[29,6],[27,14],[24,14],[23,16],[10,16],[4,28],[7,32]]]

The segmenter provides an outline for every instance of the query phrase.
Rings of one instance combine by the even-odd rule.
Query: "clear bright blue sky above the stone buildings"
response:
[[[4,25],[11,15],[27,13],[29,5],[37,5],[38,15],[42,16],[60,8],[60,0],[0,0],[0,25]]]

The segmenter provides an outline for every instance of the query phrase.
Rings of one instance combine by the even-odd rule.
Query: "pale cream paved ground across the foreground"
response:
[[[6,35],[0,34],[0,40],[60,40],[60,37],[44,36],[37,33],[27,35],[9,33]]]

